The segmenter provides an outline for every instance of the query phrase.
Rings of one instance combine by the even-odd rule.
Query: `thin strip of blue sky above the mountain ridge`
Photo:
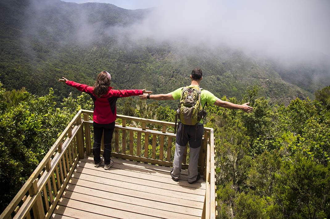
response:
[[[156,7],[164,0],[61,0],[64,2],[86,3],[86,2],[99,2],[110,3],[124,9],[143,9]]]

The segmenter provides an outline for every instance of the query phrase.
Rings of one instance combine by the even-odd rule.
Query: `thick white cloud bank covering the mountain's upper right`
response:
[[[329,58],[330,1],[166,1],[142,21],[109,32],[130,40],[229,46],[259,56]]]

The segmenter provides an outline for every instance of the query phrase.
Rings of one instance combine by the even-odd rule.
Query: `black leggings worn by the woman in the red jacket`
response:
[[[112,135],[115,130],[115,122],[110,124],[98,124],[93,123],[94,128],[94,144],[93,144],[93,155],[94,155],[94,163],[97,164],[100,162],[101,157],[101,139],[102,133],[104,131],[104,164],[110,164],[111,161],[111,140]]]

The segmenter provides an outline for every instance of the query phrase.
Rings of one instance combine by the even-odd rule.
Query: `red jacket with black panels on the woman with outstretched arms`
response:
[[[116,120],[116,101],[119,97],[137,96],[142,94],[142,90],[112,90],[109,87],[106,95],[97,98],[94,95],[94,88],[76,83],[74,81],[66,81],[65,84],[77,88],[79,91],[88,93],[94,102],[93,121],[98,124],[109,124]]]

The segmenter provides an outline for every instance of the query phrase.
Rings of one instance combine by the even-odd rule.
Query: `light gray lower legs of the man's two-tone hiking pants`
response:
[[[199,151],[201,147],[192,148],[190,147],[190,156],[189,156],[189,166],[188,166],[188,182],[193,182],[197,178],[198,170],[198,157]],[[185,152],[185,146],[175,144],[175,153],[174,153],[174,160],[173,160],[173,172],[171,173],[172,177],[175,179],[179,179],[181,175],[181,167],[182,167],[182,160],[183,155]]]

